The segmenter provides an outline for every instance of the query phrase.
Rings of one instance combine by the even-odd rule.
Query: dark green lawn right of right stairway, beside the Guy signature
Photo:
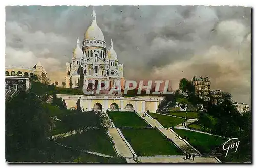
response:
[[[188,142],[199,152],[204,154],[210,153],[211,150],[216,148],[216,146],[222,146],[226,141],[218,136],[207,135],[189,130],[174,129],[174,131],[181,137],[188,137]]]

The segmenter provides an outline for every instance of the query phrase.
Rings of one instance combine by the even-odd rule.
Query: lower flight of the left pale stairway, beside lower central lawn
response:
[[[123,157],[133,157],[131,150],[129,149],[127,142],[121,137],[117,128],[109,128],[109,134],[113,137],[113,141],[115,143],[115,148],[118,154]]]

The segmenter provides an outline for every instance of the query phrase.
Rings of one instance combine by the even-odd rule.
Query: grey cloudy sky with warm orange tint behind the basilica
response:
[[[95,6],[106,43],[113,39],[124,76],[171,80],[209,76],[211,89],[250,104],[250,7]],[[92,7],[6,7],[6,65],[40,61],[50,79],[65,80],[76,39],[91,24]]]

